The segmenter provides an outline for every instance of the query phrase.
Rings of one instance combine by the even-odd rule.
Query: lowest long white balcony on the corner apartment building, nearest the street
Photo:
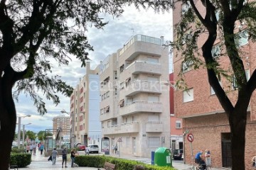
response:
[[[121,125],[112,125],[109,128],[102,128],[102,134],[110,135],[110,134],[120,134],[120,133],[133,133],[139,132],[139,123],[122,123]]]

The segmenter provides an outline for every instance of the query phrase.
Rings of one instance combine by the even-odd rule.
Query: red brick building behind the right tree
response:
[[[199,2],[199,1],[198,1]],[[200,5],[197,3],[196,5]],[[176,3],[174,9],[174,29],[176,23],[181,19],[182,4]],[[242,29],[241,29],[242,28]],[[238,33],[246,29],[245,25],[236,26]],[[201,47],[206,40],[207,35],[200,35],[198,39],[198,47]],[[174,39],[175,39],[174,34]],[[216,40],[217,47],[220,40]],[[245,38],[240,48],[246,51],[242,60],[245,64],[247,78],[256,68],[254,54],[256,52],[255,44]],[[199,49],[201,51],[201,49]],[[228,57],[220,56],[221,66],[223,68],[230,67]],[[203,58],[202,58],[203,60]],[[178,73],[183,69],[183,57],[178,55],[174,57],[174,81],[177,81]],[[176,90],[174,92],[174,110],[177,117],[182,118],[183,131],[189,131],[193,134],[194,140],[193,157],[201,149],[210,149],[213,167],[230,167],[231,152],[230,152],[230,126],[228,117],[223,108],[220,106],[218,98],[215,96],[213,89],[208,83],[206,69],[186,68],[183,70],[183,78],[186,81],[188,91]],[[228,93],[230,101],[235,103],[237,100],[237,91],[225,78],[220,81],[223,89]],[[250,105],[247,108],[247,128],[246,128],[246,143],[245,143],[245,169],[252,169],[252,157],[256,154],[256,100],[255,93],[252,94]],[[193,163],[191,159],[191,147],[188,140],[185,141],[185,162],[186,164]]]

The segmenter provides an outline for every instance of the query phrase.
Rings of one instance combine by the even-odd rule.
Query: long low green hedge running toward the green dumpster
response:
[[[174,170],[174,168],[169,166],[154,166],[149,164],[144,164],[143,162],[137,162],[134,160],[120,159],[114,157],[102,156],[90,156],[82,155],[75,157],[75,163],[78,166],[96,167],[102,168],[105,162],[110,162],[116,165],[116,170],[133,170],[135,165],[142,165],[146,170]]]

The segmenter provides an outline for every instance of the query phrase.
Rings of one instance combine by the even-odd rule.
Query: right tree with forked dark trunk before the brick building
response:
[[[239,38],[250,38],[255,42],[255,1],[247,3],[245,0],[181,0],[176,4],[186,5],[181,12],[181,21],[175,26],[176,39],[170,45],[174,48],[174,55],[182,55],[187,66],[198,69],[205,67],[208,82],[213,87],[215,95],[228,115],[231,133],[232,169],[245,169],[245,128],[247,121],[247,107],[256,87],[256,72],[252,72],[247,81],[245,65]],[[174,4],[174,6],[176,6]],[[219,13],[220,18],[217,18]],[[235,28],[242,23],[242,31]],[[244,29],[246,28],[246,31]],[[205,35],[201,52],[198,38]],[[217,38],[220,39],[220,49],[216,58],[212,53]],[[249,37],[247,36],[249,35]],[[203,57],[203,58],[202,58]],[[229,68],[223,68],[221,62],[230,62]],[[203,59],[203,60],[202,60]],[[182,74],[181,81],[183,81]],[[234,77],[234,78],[233,78]],[[219,84],[220,79],[228,79],[237,84],[237,100],[233,104],[226,91]],[[233,81],[233,82],[231,82]]]

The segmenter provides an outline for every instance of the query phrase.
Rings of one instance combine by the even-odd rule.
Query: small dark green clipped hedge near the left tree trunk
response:
[[[23,168],[31,164],[31,154],[11,154],[10,164]]]

